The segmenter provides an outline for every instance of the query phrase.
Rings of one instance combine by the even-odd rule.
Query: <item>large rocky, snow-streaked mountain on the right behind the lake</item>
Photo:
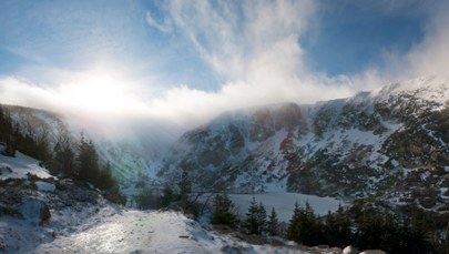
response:
[[[185,133],[159,171],[200,190],[380,197],[449,207],[449,78],[391,83],[312,105],[225,113]]]

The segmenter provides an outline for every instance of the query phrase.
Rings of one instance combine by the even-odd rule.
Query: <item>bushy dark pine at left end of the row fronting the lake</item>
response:
[[[234,213],[234,203],[226,194],[215,195],[211,223],[235,227],[237,223],[237,216]]]

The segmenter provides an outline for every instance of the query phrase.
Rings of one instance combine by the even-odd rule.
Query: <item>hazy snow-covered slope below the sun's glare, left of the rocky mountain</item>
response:
[[[176,126],[173,130],[165,129],[164,136],[161,138],[160,132],[147,131],[146,122],[142,120],[134,123],[134,126],[127,126],[131,123],[106,122],[101,130],[108,130],[110,125],[114,125],[122,131],[120,134],[109,135],[105,131],[90,130],[91,123],[85,122],[83,125],[81,120],[74,119],[75,116],[23,106],[7,105],[7,109],[11,112],[13,121],[20,124],[20,131],[23,134],[33,136],[35,140],[45,136],[49,140],[50,150],[54,148],[61,134],[67,134],[73,151],[76,151],[76,142],[83,132],[86,139],[93,140],[100,160],[103,163],[111,163],[113,175],[123,184],[154,176],[159,161],[169,145],[161,140],[170,140],[167,136],[171,135],[174,136],[171,139],[175,139],[176,135],[173,133],[177,133]]]

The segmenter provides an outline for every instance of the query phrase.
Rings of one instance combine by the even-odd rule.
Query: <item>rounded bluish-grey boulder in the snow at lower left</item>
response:
[[[20,214],[28,222],[42,225],[51,217],[50,209],[45,202],[35,199],[25,200],[19,209]]]

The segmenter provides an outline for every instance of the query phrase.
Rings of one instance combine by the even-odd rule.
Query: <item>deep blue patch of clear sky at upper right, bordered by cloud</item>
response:
[[[379,65],[382,54],[407,53],[424,39],[426,16],[411,14],[414,4],[387,13],[355,2],[328,1],[316,17],[317,26],[302,39],[306,61],[329,75],[363,72]]]

